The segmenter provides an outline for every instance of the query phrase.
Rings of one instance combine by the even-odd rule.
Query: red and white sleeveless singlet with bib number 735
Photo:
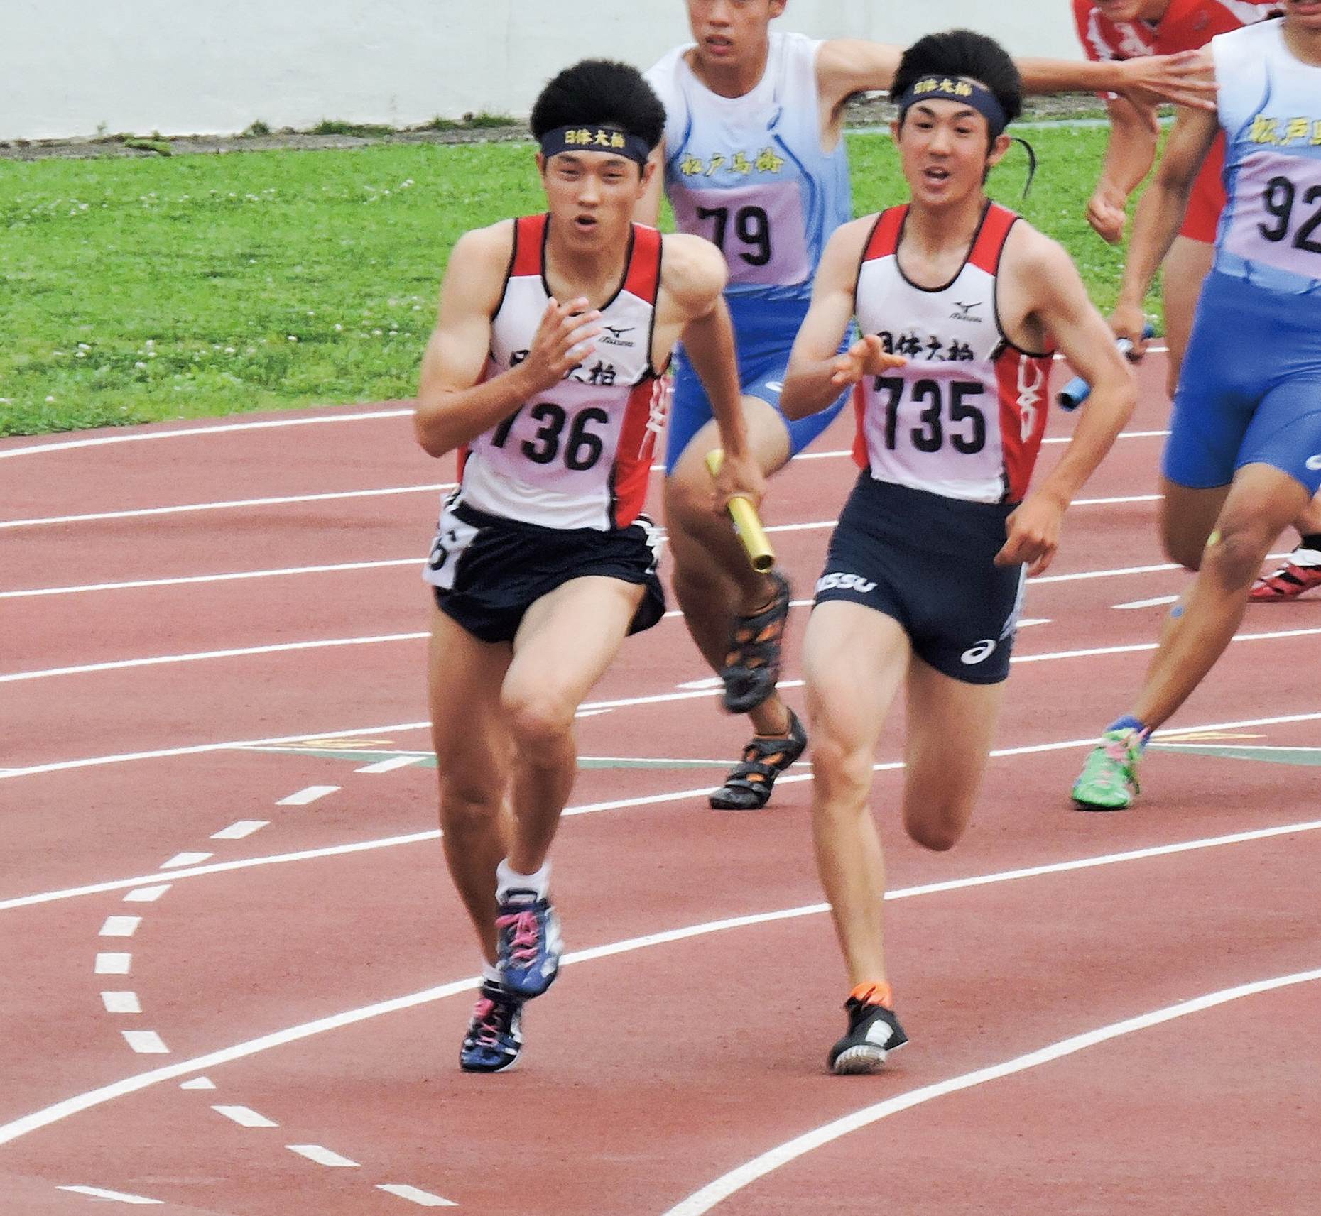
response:
[[[900,269],[908,210],[876,218],[859,268],[859,326],[909,362],[855,388],[853,457],[877,481],[1018,502],[1046,429],[1052,363],[1052,351],[1020,350],[1000,329],[996,269],[1018,217],[989,203],[959,273],[929,290]]]

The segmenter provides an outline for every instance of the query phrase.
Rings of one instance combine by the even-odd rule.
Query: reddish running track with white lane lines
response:
[[[571,951],[598,952],[571,956],[528,1006],[519,1067],[480,1077],[457,1068],[478,960],[436,840],[433,771],[359,772],[366,760],[324,742],[217,749],[301,737],[428,751],[413,635],[437,492],[408,487],[453,466],[416,449],[399,403],[136,433],[160,440],[0,442],[0,591],[398,562],[0,595],[0,676],[25,675],[0,679],[0,1212],[1310,1211],[1321,768],[1153,749],[1136,809],[1083,815],[1067,797],[1164,611],[1116,605],[1188,578],[1161,569],[1151,499],[1161,359],[1140,375],[1133,437],[1083,496],[1141,500],[1077,504],[1029,588],[1026,615],[1048,623],[1018,635],[1016,656],[1034,661],[1016,663],[1005,754],[966,838],[947,854],[910,844],[900,774],[877,776],[888,953],[913,1042],[873,1077],[824,1068],[844,977],[806,768],[754,815],[707,808],[713,767],[584,768],[555,894]],[[801,599],[853,477],[824,456],[848,446],[845,426],[766,506],[773,527],[820,524],[773,533]],[[1052,436],[1069,426],[1053,411]],[[21,523],[387,489],[406,492]],[[789,680],[806,615],[791,618]],[[1242,632],[1268,636],[1235,642],[1172,727],[1215,726],[1201,738],[1217,747],[1317,749],[1318,630],[1314,601],[1254,606]],[[325,642],[345,644],[57,671]],[[581,718],[581,754],[732,760],[742,722],[680,688],[707,676],[678,617],[630,639]],[[897,713],[877,759],[901,754]],[[336,788],[280,805],[313,786]],[[215,838],[243,821],[264,827]],[[161,869],[186,853],[209,856]],[[1085,860],[1104,863],[1069,865]],[[719,924],[732,918],[754,920]],[[680,929],[694,932],[634,940]],[[127,973],[98,973],[115,953]],[[1280,982],[1234,992],[1267,981]],[[140,1011],[111,1013],[102,993]],[[396,998],[413,999],[374,1007]],[[1161,1010],[1178,1015],[1147,1017]],[[136,1054],[124,1031],[164,1050]],[[214,1088],[181,1088],[198,1077]],[[884,1105],[905,1096],[908,1109]],[[727,1198],[684,1204],[859,1112],[852,1130],[764,1158]]]

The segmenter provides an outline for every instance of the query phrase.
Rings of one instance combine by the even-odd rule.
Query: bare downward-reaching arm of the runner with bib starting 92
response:
[[[1128,243],[1124,277],[1111,314],[1111,329],[1133,343],[1140,355],[1145,347],[1143,300],[1156,271],[1174,243],[1188,210],[1188,198],[1197,173],[1219,131],[1214,114],[1180,110],[1165,144],[1165,154],[1133,215],[1133,235]]]

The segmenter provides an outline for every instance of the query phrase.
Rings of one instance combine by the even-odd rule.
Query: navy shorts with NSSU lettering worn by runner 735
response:
[[[997,566],[1016,503],[970,503],[863,471],[831,536],[816,602],[892,617],[915,654],[964,684],[999,684],[1022,607],[1025,566]]]

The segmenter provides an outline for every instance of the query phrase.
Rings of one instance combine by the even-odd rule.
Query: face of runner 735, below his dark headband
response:
[[[963,102],[933,98],[910,106],[894,143],[913,202],[941,207],[980,193],[988,160],[999,162],[1008,145],[1000,136],[988,156],[989,133],[985,118]]]

